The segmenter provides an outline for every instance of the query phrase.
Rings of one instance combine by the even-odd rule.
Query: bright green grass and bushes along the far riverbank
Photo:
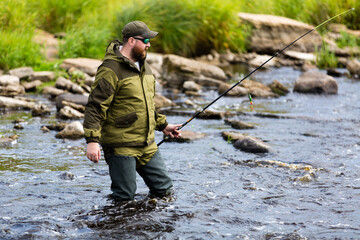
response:
[[[160,32],[151,42],[152,51],[191,57],[211,49],[247,51],[251,27],[239,24],[238,12],[280,15],[316,26],[353,7],[355,11],[334,23],[360,29],[358,0],[2,0],[0,68],[32,66],[46,70],[57,64],[47,62],[40,54],[41,47],[33,42],[36,28],[66,33],[60,46],[61,59],[101,59],[111,40],[121,40],[127,22],[141,20]],[[325,30],[326,26],[320,29]],[[337,43],[340,47],[360,46],[359,40],[344,33]],[[327,54],[319,51],[319,55]]]

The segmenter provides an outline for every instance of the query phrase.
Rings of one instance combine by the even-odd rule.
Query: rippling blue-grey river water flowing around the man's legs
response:
[[[292,89],[300,74],[279,68],[255,77]],[[139,178],[136,201],[127,203],[109,198],[107,165],[86,159],[84,140],[40,130],[58,120],[53,102],[33,96],[51,116],[1,112],[1,134],[19,138],[0,148],[0,239],[359,239],[360,81],[336,80],[337,95],[253,98],[253,111],[246,98],[219,100],[212,109],[239,113],[233,118],[256,128],[238,131],[271,152],[239,151],[222,139],[234,131],[223,120],[196,119],[184,130],[205,138],[160,147],[173,198],[148,199]],[[216,96],[207,91],[197,103]],[[19,118],[23,130],[13,128]]]

